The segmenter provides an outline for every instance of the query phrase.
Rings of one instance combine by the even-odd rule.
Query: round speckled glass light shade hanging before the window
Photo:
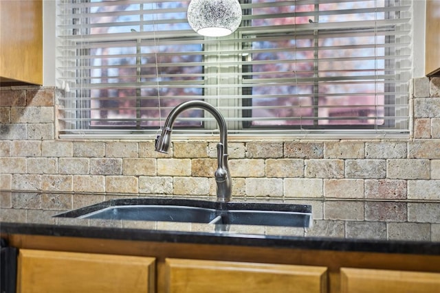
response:
[[[188,23],[202,36],[228,36],[241,23],[238,0],[191,0]]]

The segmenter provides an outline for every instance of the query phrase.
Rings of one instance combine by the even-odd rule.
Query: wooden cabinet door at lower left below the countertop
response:
[[[155,259],[19,250],[17,292],[154,292]]]

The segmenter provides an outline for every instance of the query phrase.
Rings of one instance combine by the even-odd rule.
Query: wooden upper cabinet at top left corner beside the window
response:
[[[43,84],[43,1],[0,0],[0,85]]]

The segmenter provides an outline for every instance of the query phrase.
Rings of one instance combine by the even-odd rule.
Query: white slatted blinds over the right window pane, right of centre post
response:
[[[408,127],[408,3],[275,2],[243,5],[251,126]]]

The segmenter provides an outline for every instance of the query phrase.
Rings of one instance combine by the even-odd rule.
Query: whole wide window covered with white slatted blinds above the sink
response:
[[[230,134],[408,133],[408,0],[241,0],[223,38],[190,29],[189,1],[58,1],[63,134],[155,134],[189,99]],[[216,128],[202,110],[175,124]]]

